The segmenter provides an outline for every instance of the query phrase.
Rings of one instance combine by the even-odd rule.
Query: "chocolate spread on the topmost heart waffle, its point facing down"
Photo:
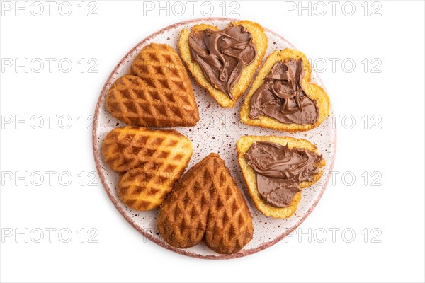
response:
[[[189,48],[210,84],[233,100],[233,86],[244,67],[256,57],[251,33],[242,25],[230,25],[219,31],[192,31]]]

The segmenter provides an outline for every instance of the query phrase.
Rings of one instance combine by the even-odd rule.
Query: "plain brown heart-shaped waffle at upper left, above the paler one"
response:
[[[198,107],[176,50],[151,43],[137,54],[131,71],[109,90],[106,105],[113,117],[143,127],[196,125]]]

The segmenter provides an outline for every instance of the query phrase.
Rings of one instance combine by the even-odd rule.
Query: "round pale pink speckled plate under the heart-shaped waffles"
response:
[[[207,23],[210,25],[216,25],[221,29],[225,28],[230,21],[236,20],[230,18],[200,18],[193,21],[185,21],[170,25],[167,28],[159,30],[153,35],[150,35],[145,38],[145,40],[142,40],[125,55],[117,67],[115,67],[111,76],[109,76],[105,86],[103,86],[101,95],[98,98],[96,111],[94,113],[93,150],[96,168],[103,187],[115,207],[118,209],[118,212],[120,212],[120,214],[124,216],[125,220],[137,229],[137,231],[140,231],[140,233],[145,235],[151,241],[154,241],[154,243],[157,243],[164,248],[168,248],[169,250],[173,250],[176,253],[190,255],[195,258],[239,258],[244,255],[256,253],[264,248],[268,248],[274,243],[285,238],[285,236],[287,236],[291,231],[299,226],[302,221],[305,220],[310,212],[312,212],[312,209],[314,209],[317,202],[319,202],[319,199],[322,197],[327,186],[329,172],[334,165],[336,129],[332,127],[329,117],[319,127],[308,132],[297,134],[288,134],[272,129],[263,129],[261,127],[251,127],[244,125],[239,119],[239,110],[244,97],[239,98],[239,101],[232,109],[221,108],[220,105],[218,105],[217,102],[208,93],[206,93],[205,89],[200,87],[198,83],[191,78],[193,91],[195,92],[196,101],[198,103],[200,121],[195,127],[175,128],[191,139],[193,144],[193,156],[188,168],[191,168],[191,166],[198,163],[198,161],[202,160],[205,156],[208,156],[211,152],[220,154],[222,159],[225,161],[227,168],[231,171],[232,176],[237,181],[239,188],[241,188],[244,192],[244,197],[251,210],[254,222],[254,236],[252,237],[252,240],[244,247],[243,250],[233,255],[217,254],[205,246],[204,243],[199,243],[198,245],[187,249],[174,248],[166,243],[161,236],[159,236],[156,225],[158,214],[157,209],[150,212],[137,212],[129,209],[120,202],[117,191],[118,173],[115,173],[108,167],[101,154],[102,142],[106,134],[115,127],[125,126],[125,124],[113,118],[106,109],[105,100],[111,84],[115,81],[115,79],[118,79],[118,77],[128,73],[130,64],[135,55],[140,52],[142,47],[145,45],[148,45],[151,42],[166,43],[178,50],[177,43],[179,40],[179,34],[183,28],[191,28],[196,24]],[[268,29],[265,29],[265,31],[268,37],[268,50],[264,59],[266,59],[268,54],[271,54],[273,50],[283,50],[288,47],[295,48],[290,44],[290,42],[280,35],[277,35]],[[319,76],[314,70],[312,71],[312,81],[324,88],[322,81],[320,81]],[[323,155],[327,163],[324,167],[324,176],[322,176],[322,179],[315,185],[312,185],[312,187],[302,190],[302,200],[298,205],[297,212],[288,219],[273,219],[271,217],[264,216],[261,212],[257,211],[254,206],[254,202],[251,200],[251,197],[246,190],[246,185],[237,163],[236,141],[239,137],[244,135],[266,136],[271,134],[308,139],[312,143],[316,144],[319,152]],[[324,178],[325,176],[328,176],[328,178]]]

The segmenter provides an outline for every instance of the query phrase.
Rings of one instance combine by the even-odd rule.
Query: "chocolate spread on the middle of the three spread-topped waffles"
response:
[[[265,115],[285,124],[312,124],[319,114],[316,101],[302,89],[302,60],[276,62],[251,97],[249,118]]]

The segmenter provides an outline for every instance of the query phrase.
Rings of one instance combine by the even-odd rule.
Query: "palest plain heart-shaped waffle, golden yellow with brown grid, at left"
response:
[[[103,141],[106,163],[120,175],[118,194],[128,207],[150,210],[164,201],[188,166],[191,141],[174,129],[113,129]]]

